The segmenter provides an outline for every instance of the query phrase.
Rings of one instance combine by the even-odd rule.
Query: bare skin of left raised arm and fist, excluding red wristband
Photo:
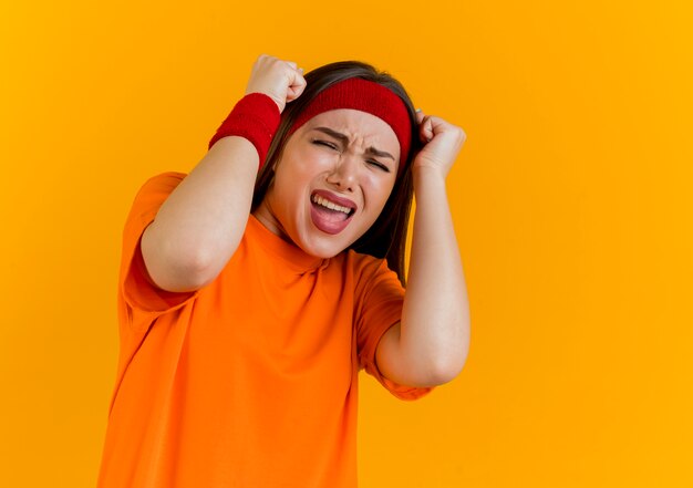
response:
[[[246,94],[270,96],[281,113],[304,86],[296,63],[260,55]],[[218,276],[248,222],[259,163],[250,141],[227,136],[180,181],[142,237],[143,260],[154,284],[192,291]]]

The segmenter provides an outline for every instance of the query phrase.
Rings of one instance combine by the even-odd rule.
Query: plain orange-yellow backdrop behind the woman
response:
[[[362,375],[360,486],[693,486],[690,3],[250,3],[0,6],[0,486],[94,485],[124,219],[260,53],[370,62],[468,136],[469,359],[415,403]]]

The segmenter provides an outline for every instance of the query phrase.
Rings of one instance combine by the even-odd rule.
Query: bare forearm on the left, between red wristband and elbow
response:
[[[159,249],[204,279],[218,274],[246,228],[258,163],[249,141],[217,141],[162,205],[152,224]]]

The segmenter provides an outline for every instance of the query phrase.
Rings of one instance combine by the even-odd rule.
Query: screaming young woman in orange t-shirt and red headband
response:
[[[259,56],[203,160],[127,217],[99,486],[355,487],[359,371],[416,399],[466,360],[464,141],[368,64]]]

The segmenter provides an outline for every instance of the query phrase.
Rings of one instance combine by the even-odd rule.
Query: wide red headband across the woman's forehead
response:
[[[350,77],[320,92],[298,116],[289,129],[289,135],[316,115],[337,108],[368,112],[385,121],[400,142],[397,174],[402,172],[412,136],[408,111],[394,92],[369,80]]]

